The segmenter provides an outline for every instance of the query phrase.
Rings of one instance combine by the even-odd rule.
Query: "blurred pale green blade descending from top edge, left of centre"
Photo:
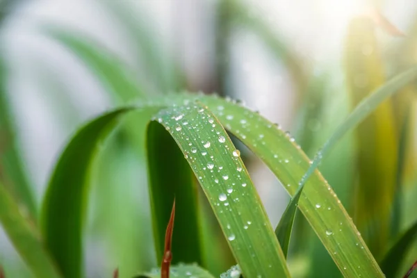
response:
[[[154,79],[154,85],[158,86],[159,92],[170,92],[180,90],[181,71],[174,59],[164,51],[163,44],[158,42],[157,31],[149,28],[146,15],[141,14],[140,10],[135,10],[132,2],[113,2],[104,1],[101,5],[108,10],[117,22],[120,22],[122,32],[125,31],[127,38],[131,38],[135,50],[137,51],[136,64],[146,69],[146,78]],[[139,15],[138,15],[138,13]],[[142,62],[142,63],[141,63]],[[155,80],[157,78],[157,80]]]

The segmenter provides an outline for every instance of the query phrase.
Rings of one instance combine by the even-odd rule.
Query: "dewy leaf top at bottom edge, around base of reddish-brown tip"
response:
[[[198,265],[179,264],[171,266],[170,277],[213,278],[213,275],[211,275],[207,270],[200,268]],[[135,278],[161,278],[161,269],[154,269],[152,272],[146,273],[144,275],[138,275]]]

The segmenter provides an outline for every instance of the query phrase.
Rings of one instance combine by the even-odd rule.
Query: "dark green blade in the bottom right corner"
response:
[[[391,249],[385,254],[384,259],[382,259],[381,265],[382,271],[384,272],[386,278],[395,278],[398,276],[398,270],[404,258],[407,256],[407,252],[410,250],[414,240],[417,238],[417,222],[415,222],[407,231],[402,234],[396,240]]]

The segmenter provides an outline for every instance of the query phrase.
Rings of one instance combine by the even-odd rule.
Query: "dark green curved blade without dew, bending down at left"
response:
[[[86,125],[67,145],[51,176],[42,204],[42,231],[48,250],[65,277],[81,277],[81,231],[90,164],[99,140],[129,108]]]

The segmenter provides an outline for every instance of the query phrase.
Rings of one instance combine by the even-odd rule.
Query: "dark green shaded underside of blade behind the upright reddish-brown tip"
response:
[[[193,172],[172,136],[158,122],[151,122],[147,129],[147,165],[158,264],[165,254],[165,227],[176,199],[172,263],[195,262],[205,266]]]

